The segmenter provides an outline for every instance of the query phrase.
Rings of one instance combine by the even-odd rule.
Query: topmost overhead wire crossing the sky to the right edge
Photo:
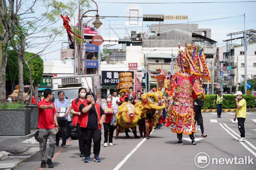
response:
[[[212,4],[212,3],[250,3],[256,1],[224,1],[224,2],[97,2],[106,4]]]

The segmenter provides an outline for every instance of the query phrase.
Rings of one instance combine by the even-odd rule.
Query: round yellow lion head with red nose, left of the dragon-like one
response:
[[[140,120],[140,110],[129,102],[124,102],[121,106],[118,106],[118,111],[116,121],[124,128],[132,128]]]

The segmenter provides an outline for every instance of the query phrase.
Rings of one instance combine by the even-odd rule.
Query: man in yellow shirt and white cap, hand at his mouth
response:
[[[236,117],[237,117],[237,122],[238,122],[238,129],[241,133],[241,138],[238,139],[238,142],[245,142],[245,138],[244,138],[244,134],[245,134],[245,130],[244,130],[244,121],[246,118],[246,100],[243,98],[243,93],[238,91],[236,92],[236,115],[234,117],[234,121],[236,121]]]

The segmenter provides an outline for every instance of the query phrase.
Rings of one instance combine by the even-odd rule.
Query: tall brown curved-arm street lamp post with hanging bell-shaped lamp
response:
[[[98,4],[97,4],[94,0],[91,0],[91,1],[93,1],[93,2],[96,4],[97,9],[96,9],[96,10],[88,10],[88,11],[85,11],[85,12],[82,14],[82,16],[80,15],[80,13],[81,13],[80,6],[81,6],[81,4],[84,2],[84,0],[82,0],[82,1],[79,3],[79,7],[78,7],[78,29],[81,31],[82,37],[84,37],[82,21],[83,21],[83,17],[84,17],[84,14],[85,14],[85,13],[87,13],[87,12],[89,12],[89,11],[97,11],[96,19],[95,19],[95,21],[94,21],[92,24],[93,24],[97,29],[102,25],[102,22],[100,22],[100,20],[99,20],[99,15],[98,15],[98,11],[99,11],[99,10],[98,10]],[[79,56],[77,56],[77,57],[79,57],[79,60],[81,61],[81,59],[82,59],[82,42],[79,43],[77,51],[78,51],[78,55],[79,55]],[[77,65],[78,65],[77,74],[78,74],[78,75],[81,75],[81,68],[82,68],[82,66],[81,66],[80,62],[78,62]]]

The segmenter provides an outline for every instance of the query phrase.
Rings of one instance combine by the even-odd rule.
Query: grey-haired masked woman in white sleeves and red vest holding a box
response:
[[[103,121],[103,127],[104,127],[104,147],[113,146],[113,134],[115,130],[115,126],[111,125],[111,119],[116,120],[116,113],[118,113],[118,108],[116,106],[116,103],[112,103],[112,95],[107,94],[106,95],[106,104],[102,105],[102,109],[104,110],[106,114],[106,118]],[[109,138],[108,138],[108,132],[109,132]]]

